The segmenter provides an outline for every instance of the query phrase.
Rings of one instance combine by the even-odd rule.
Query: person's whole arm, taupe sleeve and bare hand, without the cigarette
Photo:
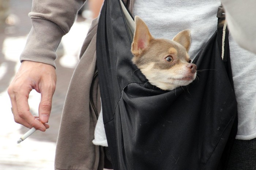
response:
[[[56,86],[55,51],[61,37],[74,23],[82,3],[82,0],[33,0],[29,13],[32,29],[20,56],[23,62],[8,88],[15,122],[41,131],[49,128],[46,123]],[[41,93],[38,119],[29,109],[28,97],[33,89]]]

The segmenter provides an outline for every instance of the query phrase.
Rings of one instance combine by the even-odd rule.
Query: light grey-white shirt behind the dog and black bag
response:
[[[173,39],[183,29],[191,30],[189,50],[195,58],[217,29],[220,0],[135,0],[132,14],[148,25],[155,38]],[[238,102],[236,139],[256,138],[256,56],[229,36],[230,58],[235,94]]]

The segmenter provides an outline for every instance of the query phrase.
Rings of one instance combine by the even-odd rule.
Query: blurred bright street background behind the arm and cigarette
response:
[[[57,86],[53,96],[50,128],[44,133],[36,131],[17,144],[28,129],[14,122],[7,88],[20,66],[19,56],[31,28],[28,17],[31,4],[32,0],[0,0],[0,170],[54,169],[56,140],[68,84],[78,63],[80,48],[91,20],[98,15],[90,10],[89,2],[86,2],[57,50]],[[100,8],[101,2],[94,5]],[[40,94],[34,90],[29,96],[30,110],[34,114],[38,113],[40,98]]]

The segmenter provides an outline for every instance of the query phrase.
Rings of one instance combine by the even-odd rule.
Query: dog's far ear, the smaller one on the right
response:
[[[180,43],[185,49],[189,50],[191,45],[191,32],[189,29],[185,29],[181,32],[179,32],[174,38],[173,41],[176,41],[177,43]]]

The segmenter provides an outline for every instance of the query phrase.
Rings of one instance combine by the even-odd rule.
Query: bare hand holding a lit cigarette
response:
[[[52,96],[56,87],[56,71],[49,64],[23,61],[16,76],[8,87],[12,112],[16,123],[28,128],[45,131],[52,108]],[[39,119],[29,111],[29,93],[35,89],[41,93]]]

